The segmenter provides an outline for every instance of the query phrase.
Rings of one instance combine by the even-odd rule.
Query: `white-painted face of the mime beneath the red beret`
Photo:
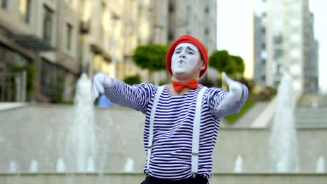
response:
[[[200,59],[198,47],[191,43],[180,43],[175,47],[171,56],[171,70],[173,74],[189,73]]]

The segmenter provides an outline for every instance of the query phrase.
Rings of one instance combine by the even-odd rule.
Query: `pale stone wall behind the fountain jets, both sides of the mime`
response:
[[[28,173],[32,162],[37,165],[32,169],[34,173],[78,171],[65,151],[71,114],[73,107],[67,105],[29,105],[0,112],[0,172]],[[96,108],[95,118],[99,147],[91,171],[142,173],[144,115],[124,107],[110,107]],[[238,156],[242,158],[239,173],[272,172],[269,137],[269,127],[221,128],[213,154],[214,173],[233,173]],[[297,128],[296,139],[299,172],[315,173],[319,158],[327,158],[327,128]],[[61,167],[57,167],[58,163]],[[320,168],[326,166],[319,162]]]

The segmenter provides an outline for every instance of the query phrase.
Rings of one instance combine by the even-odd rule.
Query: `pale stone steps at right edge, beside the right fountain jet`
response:
[[[294,113],[300,128],[327,128],[327,95],[303,94]]]

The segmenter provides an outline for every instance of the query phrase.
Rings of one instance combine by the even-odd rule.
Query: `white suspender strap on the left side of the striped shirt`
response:
[[[152,152],[152,141],[153,141],[153,124],[154,124],[154,114],[156,113],[157,104],[159,97],[163,91],[164,86],[159,86],[156,95],[154,95],[154,100],[151,109],[150,115],[150,123],[149,123],[149,140],[147,144],[147,173],[149,173],[149,163],[150,163],[150,156]]]

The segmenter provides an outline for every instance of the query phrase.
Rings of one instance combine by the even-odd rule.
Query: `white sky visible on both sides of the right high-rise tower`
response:
[[[245,59],[245,77],[252,77],[253,72],[252,15],[258,1],[261,0],[217,0],[217,49],[226,49]],[[327,72],[323,71],[327,68],[327,0],[309,0],[309,3],[314,13],[315,38],[319,40],[319,88],[327,93]]]

